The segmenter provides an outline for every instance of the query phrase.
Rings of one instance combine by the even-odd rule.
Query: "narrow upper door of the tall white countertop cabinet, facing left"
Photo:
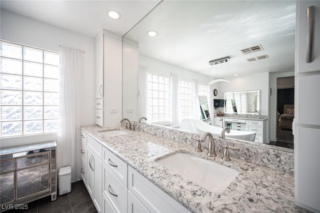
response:
[[[95,98],[103,97],[103,34],[95,41]]]

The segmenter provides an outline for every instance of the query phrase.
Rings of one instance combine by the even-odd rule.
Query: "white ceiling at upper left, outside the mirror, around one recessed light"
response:
[[[3,9],[95,37],[103,28],[123,35],[160,0],[1,0]],[[108,17],[107,10],[121,18]]]

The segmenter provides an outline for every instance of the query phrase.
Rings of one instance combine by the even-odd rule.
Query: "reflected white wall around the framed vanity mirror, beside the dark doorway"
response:
[[[230,81],[230,83],[221,81],[213,84],[213,88],[218,90],[218,94],[215,96],[215,98],[223,99],[224,92],[227,91],[247,91],[260,89],[261,115],[267,115],[269,118],[269,72],[239,75],[231,78]],[[268,119],[267,122],[269,121],[270,120]],[[268,135],[268,133],[266,135]]]

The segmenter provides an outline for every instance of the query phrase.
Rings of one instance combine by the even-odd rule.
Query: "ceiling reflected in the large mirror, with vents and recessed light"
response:
[[[146,31],[156,30],[156,37]],[[292,71],[295,1],[162,1],[126,38],[139,52],[205,75]],[[239,50],[261,44],[264,50]],[[269,57],[248,62],[246,58]],[[230,56],[222,65],[208,61]]]

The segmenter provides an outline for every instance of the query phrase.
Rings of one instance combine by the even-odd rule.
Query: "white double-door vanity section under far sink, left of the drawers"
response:
[[[98,212],[102,205],[102,145],[87,136],[87,190]]]

